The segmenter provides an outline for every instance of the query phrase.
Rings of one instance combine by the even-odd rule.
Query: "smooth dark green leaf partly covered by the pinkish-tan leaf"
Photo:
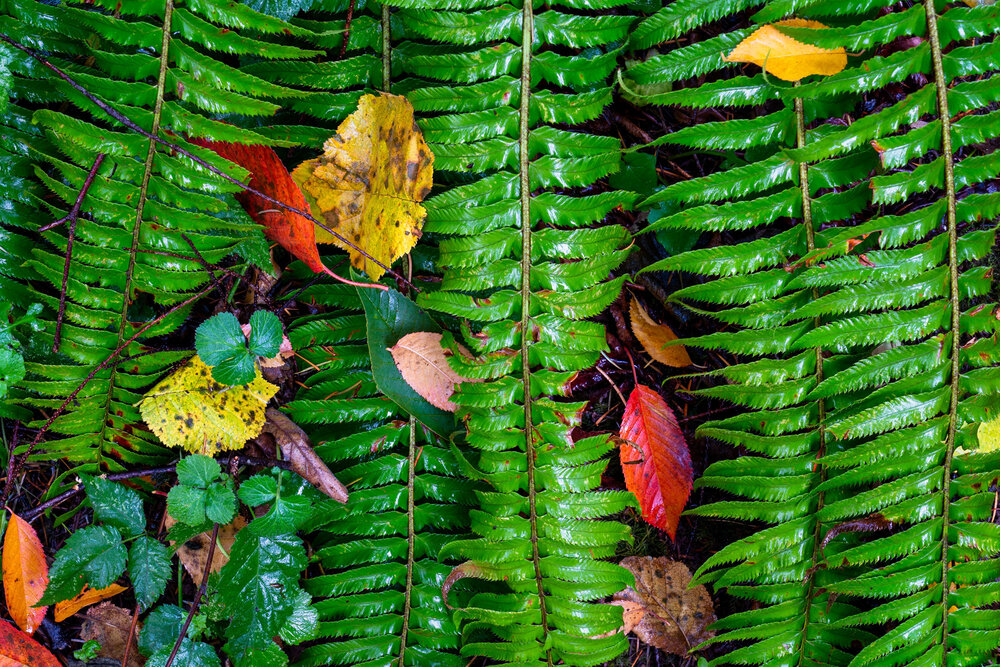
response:
[[[359,290],[368,326],[372,375],[379,389],[399,407],[435,433],[450,434],[454,417],[420,397],[396,368],[389,348],[408,333],[440,331],[440,327],[413,301],[395,290]]]

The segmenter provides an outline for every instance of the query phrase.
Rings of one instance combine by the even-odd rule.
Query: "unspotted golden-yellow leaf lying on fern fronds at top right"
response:
[[[825,28],[819,21],[786,19],[774,25],[790,28]],[[821,49],[783,34],[774,25],[758,28],[722,59],[730,63],[753,63],[785,81],[799,81],[811,74],[828,76],[847,66],[843,48]]]

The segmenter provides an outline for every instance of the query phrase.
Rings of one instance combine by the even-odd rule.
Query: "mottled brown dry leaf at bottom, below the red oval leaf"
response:
[[[668,653],[685,656],[715,636],[708,629],[715,622],[712,598],[704,586],[688,589],[691,571],[686,565],[663,556],[629,556],[621,565],[635,575],[635,588],[626,588],[614,599],[637,602],[645,610],[632,628],[636,637]],[[634,619],[634,609],[632,613]]]

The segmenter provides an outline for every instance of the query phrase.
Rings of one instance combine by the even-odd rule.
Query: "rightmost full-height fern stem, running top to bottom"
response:
[[[951,400],[948,406],[948,437],[945,441],[943,478],[941,480],[941,664],[948,655],[948,523],[951,509],[951,466],[955,456],[958,424],[959,372],[961,370],[961,302],[958,291],[958,215],[955,196],[955,159],[951,147],[951,113],[948,111],[948,79],[941,58],[937,10],[934,0],[924,0],[927,14],[927,39],[931,45],[934,85],[937,88],[938,117],[941,119],[941,155],[944,157],[944,187],[948,216],[948,275],[951,301]]]

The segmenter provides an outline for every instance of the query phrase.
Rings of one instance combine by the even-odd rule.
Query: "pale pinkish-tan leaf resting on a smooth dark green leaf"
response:
[[[406,383],[428,403],[441,410],[454,412],[458,407],[451,400],[455,385],[462,382],[482,382],[464,378],[451,369],[451,350],[441,345],[441,334],[429,331],[409,333],[389,348],[396,368]],[[465,349],[462,349],[465,352]]]

